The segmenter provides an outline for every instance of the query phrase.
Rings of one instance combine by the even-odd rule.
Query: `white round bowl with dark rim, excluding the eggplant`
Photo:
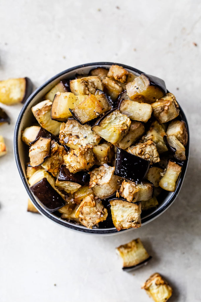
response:
[[[32,95],[27,99],[26,103],[24,104],[19,117],[17,119],[17,123],[15,126],[15,132],[14,132],[14,154],[15,154],[15,160],[17,163],[17,168],[19,170],[22,182],[27,190],[27,193],[33,202],[34,206],[37,208],[37,210],[50,220],[54,221],[55,223],[60,224],[61,226],[67,227],[72,230],[85,232],[85,233],[91,233],[91,234],[97,234],[97,235],[111,235],[115,233],[122,233],[127,230],[121,230],[117,231],[115,227],[108,227],[107,224],[104,227],[94,227],[93,229],[87,229],[85,226],[78,225],[73,222],[69,222],[67,220],[61,219],[54,213],[49,213],[34,197],[34,195],[31,193],[29,189],[29,185],[26,178],[26,162],[28,162],[28,155],[27,155],[27,146],[22,142],[21,140],[21,131],[28,126],[31,126],[32,122],[34,121],[33,114],[31,112],[31,107],[37,104],[42,97],[53,87],[55,86],[59,81],[62,79],[73,79],[74,76],[78,74],[87,74],[91,69],[94,69],[96,67],[106,67],[109,68],[113,64],[118,64],[120,66],[123,66],[128,71],[133,72],[135,75],[140,75],[142,71],[135,69],[130,66],[126,66],[124,64],[119,63],[108,63],[108,62],[98,62],[98,63],[87,63],[79,66],[75,66],[72,68],[69,68],[67,70],[64,70],[60,73],[58,73],[56,76],[52,77],[48,81],[46,81],[43,85],[41,85],[39,88],[37,88]],[[188,129],[188,123],[187,119],[185,117],[185,114],[180,106],[180,118],[185,121],[187,125],[187,130],[189,134]],[[143,213],[142,216],[142,225],[145,225],[146,223],[154,220],[156,217],[158,217],[160,214],[162,214],[167,208],[173,203],[175,198],[177,197],[182,182],[184,180],[184,176],[187,169],[188,164],[188,157],[189,157],[189,139],[186,146],[186,157],[187,160],[184,162],[181,174],[179,179],[177,180],[176,189],[174,192],[168,192],[164,191],[163,194],[160,194],[157,198],[159,201],[159,206],[155,210],[149,210]],[[130,230],[130,229],[129,229]]]

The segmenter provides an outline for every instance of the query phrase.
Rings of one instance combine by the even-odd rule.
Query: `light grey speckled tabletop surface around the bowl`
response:
[[[26,212],[13,154],[22,105],[1,105],[12,120],[0,126],[8,146],[0,158],[1,302],[151,301],[140,287],[156,271],[174,288],[170,301],[201,300],[200,26],[196,0],[1,1],[0,79],[29,76],[38,86],[78,64],[124,63],[165,80],[191,134],[189,168],[174,204],[138,230],[96,237]],[[137,237],[153,259],[123,272],[115,247]]]

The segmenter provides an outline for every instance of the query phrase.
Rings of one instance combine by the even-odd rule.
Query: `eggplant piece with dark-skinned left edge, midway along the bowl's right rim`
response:
[[[177,160],[183,161],[186,160],[186,149],[182,143],[174,135],[171,136],[164,136],[163,137],[168,150],[173,153],[174,157]]]

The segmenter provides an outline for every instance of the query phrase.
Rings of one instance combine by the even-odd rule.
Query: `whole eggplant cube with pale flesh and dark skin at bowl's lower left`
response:
[[[64,194],[55,187],[54,178],[45,170],[38,170],[29,179],[30,191],[49,212],[66,204]]]

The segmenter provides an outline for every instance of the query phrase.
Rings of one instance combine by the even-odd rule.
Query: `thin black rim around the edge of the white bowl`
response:
[[[143,73],[142,71],[136,69],[136,68],[133,68],[131,66],[127,66],[127,65],[124,65],[124,64],[120,64],[120,63],[111,63],[111,62],[96,62],[96,63],[86,63],[86,64],[82,64],[82,65],[78,65],[78,66],[75,66],[75,67],[71,67],[69,69],[66,69],[60,73],[58,73],[56,76],[53,76],[51,79],[49,79],[48,81],[46,81],[44,84],[42,84],[41,86],[39,86],[30,96],[29,98],[27,99],[27,101],[25,102],[20,114],[19,114],[19,117],[17,119],[17,123],[15,125],[15,131],[14,131],[14,155],[15,155],[15,160],[16,160],[16,164],[17,164],[17,169],[20,173],[20,177],[22,179],[22,182],[24,184],[24,187],[26,188],[27,190],[27,193],[31,199],[31,201],[33,202],[33,204],[36,206],[36,208],[39,209],[39,211],[46,217],[48,217],[49,219],[51,219],[52,221],[54,221],[55,223],[58,223],[62,226],[65,226],[65,227],[68,227],[72,230],[77,230],[77,231],[81,231],[81,232],[84,232],[84,233],[93,233],[93,234],[100,234],[100,235],[104,235],[104,234],[112,234],[112,233],[120,233],[122,231],[126,231],[126,230],[121,230],[121,231],[117,231],[114,227],[114,229],[87,229],[87,228],[80,228],[80,226],[76,225],[76,224],[68,224],[68,222],[66,221],[63,221],[62,219],[60,219],[59,217],[54,217],[54,216],[51,216],[48,212],[46,212],[41,206],[40,204],[35,200],[35,198],[33,197],[30,189],[29,189],[29,185],[27,184],[27,180],[26,180],[26,177],[24,176],[24,172],[23,172],[23,169],[22,169],[22,166],[21,166],[21,163],[20,163],[20,157],[19,157],[19,154],[18,154],[18,132],[19,132],[19,127],[20,127],[20,123],[21,123],[21,120],[22,120],[22,117],[24,115],[24,112],[26,111],[27,109],[27,106],[28,104],[32,101],[32,99],[43,89],[45,88],[48,84],[50,84],[52,81],[54,81],[55,79],[57,79],[58,77],[60,76],[63,76],[64,74],[68,73],[68,72],[71,72],[75,69],[78,69],[78,68],[82,68],[82,67],[87,67],[87,66],[104,66],[104,65],[114,65],[114,64],[117,64],[117,65],[120,65],[120,66],[123,66],[124,68],[127,68],[127,69],[130,69],[134,72],[137,72],[139,74]],[[179,106],[180,107],[180,106]],[[175,198],[177,197],[177,194],[179,193],[180,189],[181,189],[181,185],[182,185],[182,182],[184,180],[184,176],[185,176],[185,173],[186,173],[186,169],[187,169],[187,164],[188,164],[188,156],[189,156],[189,127],[188,127],[188,123],[187,123],[187,119],[186,119],[186,116],[184,114],[184,111],[182,110],[182,108],[180,107],[180,114],[181,114],[181,117],[182,117],[182,120],[184,120],[184,122],[186,123],[187,125],[187,131],[188,131],[188,143],[187,145],[185,146],[186,148],[186,161],[183,163],[183,166],[182,166],[182,170],[181,170],[181,175],[180,175],[180,178],[179,178],[179,181],[177,183],[177,187],[176,187],[176,190],[174,191],[174,193],[172,194],[172,196],[168,199],[168,201],[161,207],[159,208],[158,210],[155,211],[155,213],[153,214],[150,214],[148,217],[144,217],[142,218],[142,224],[143,223],[146,223],[148,222],[149,220],[153,220],[154,218],[156,218],[157,216],[159,216],[160,214],[162,214],[163,211],[165,211],[172,203],[173,201],[175,200]]]

